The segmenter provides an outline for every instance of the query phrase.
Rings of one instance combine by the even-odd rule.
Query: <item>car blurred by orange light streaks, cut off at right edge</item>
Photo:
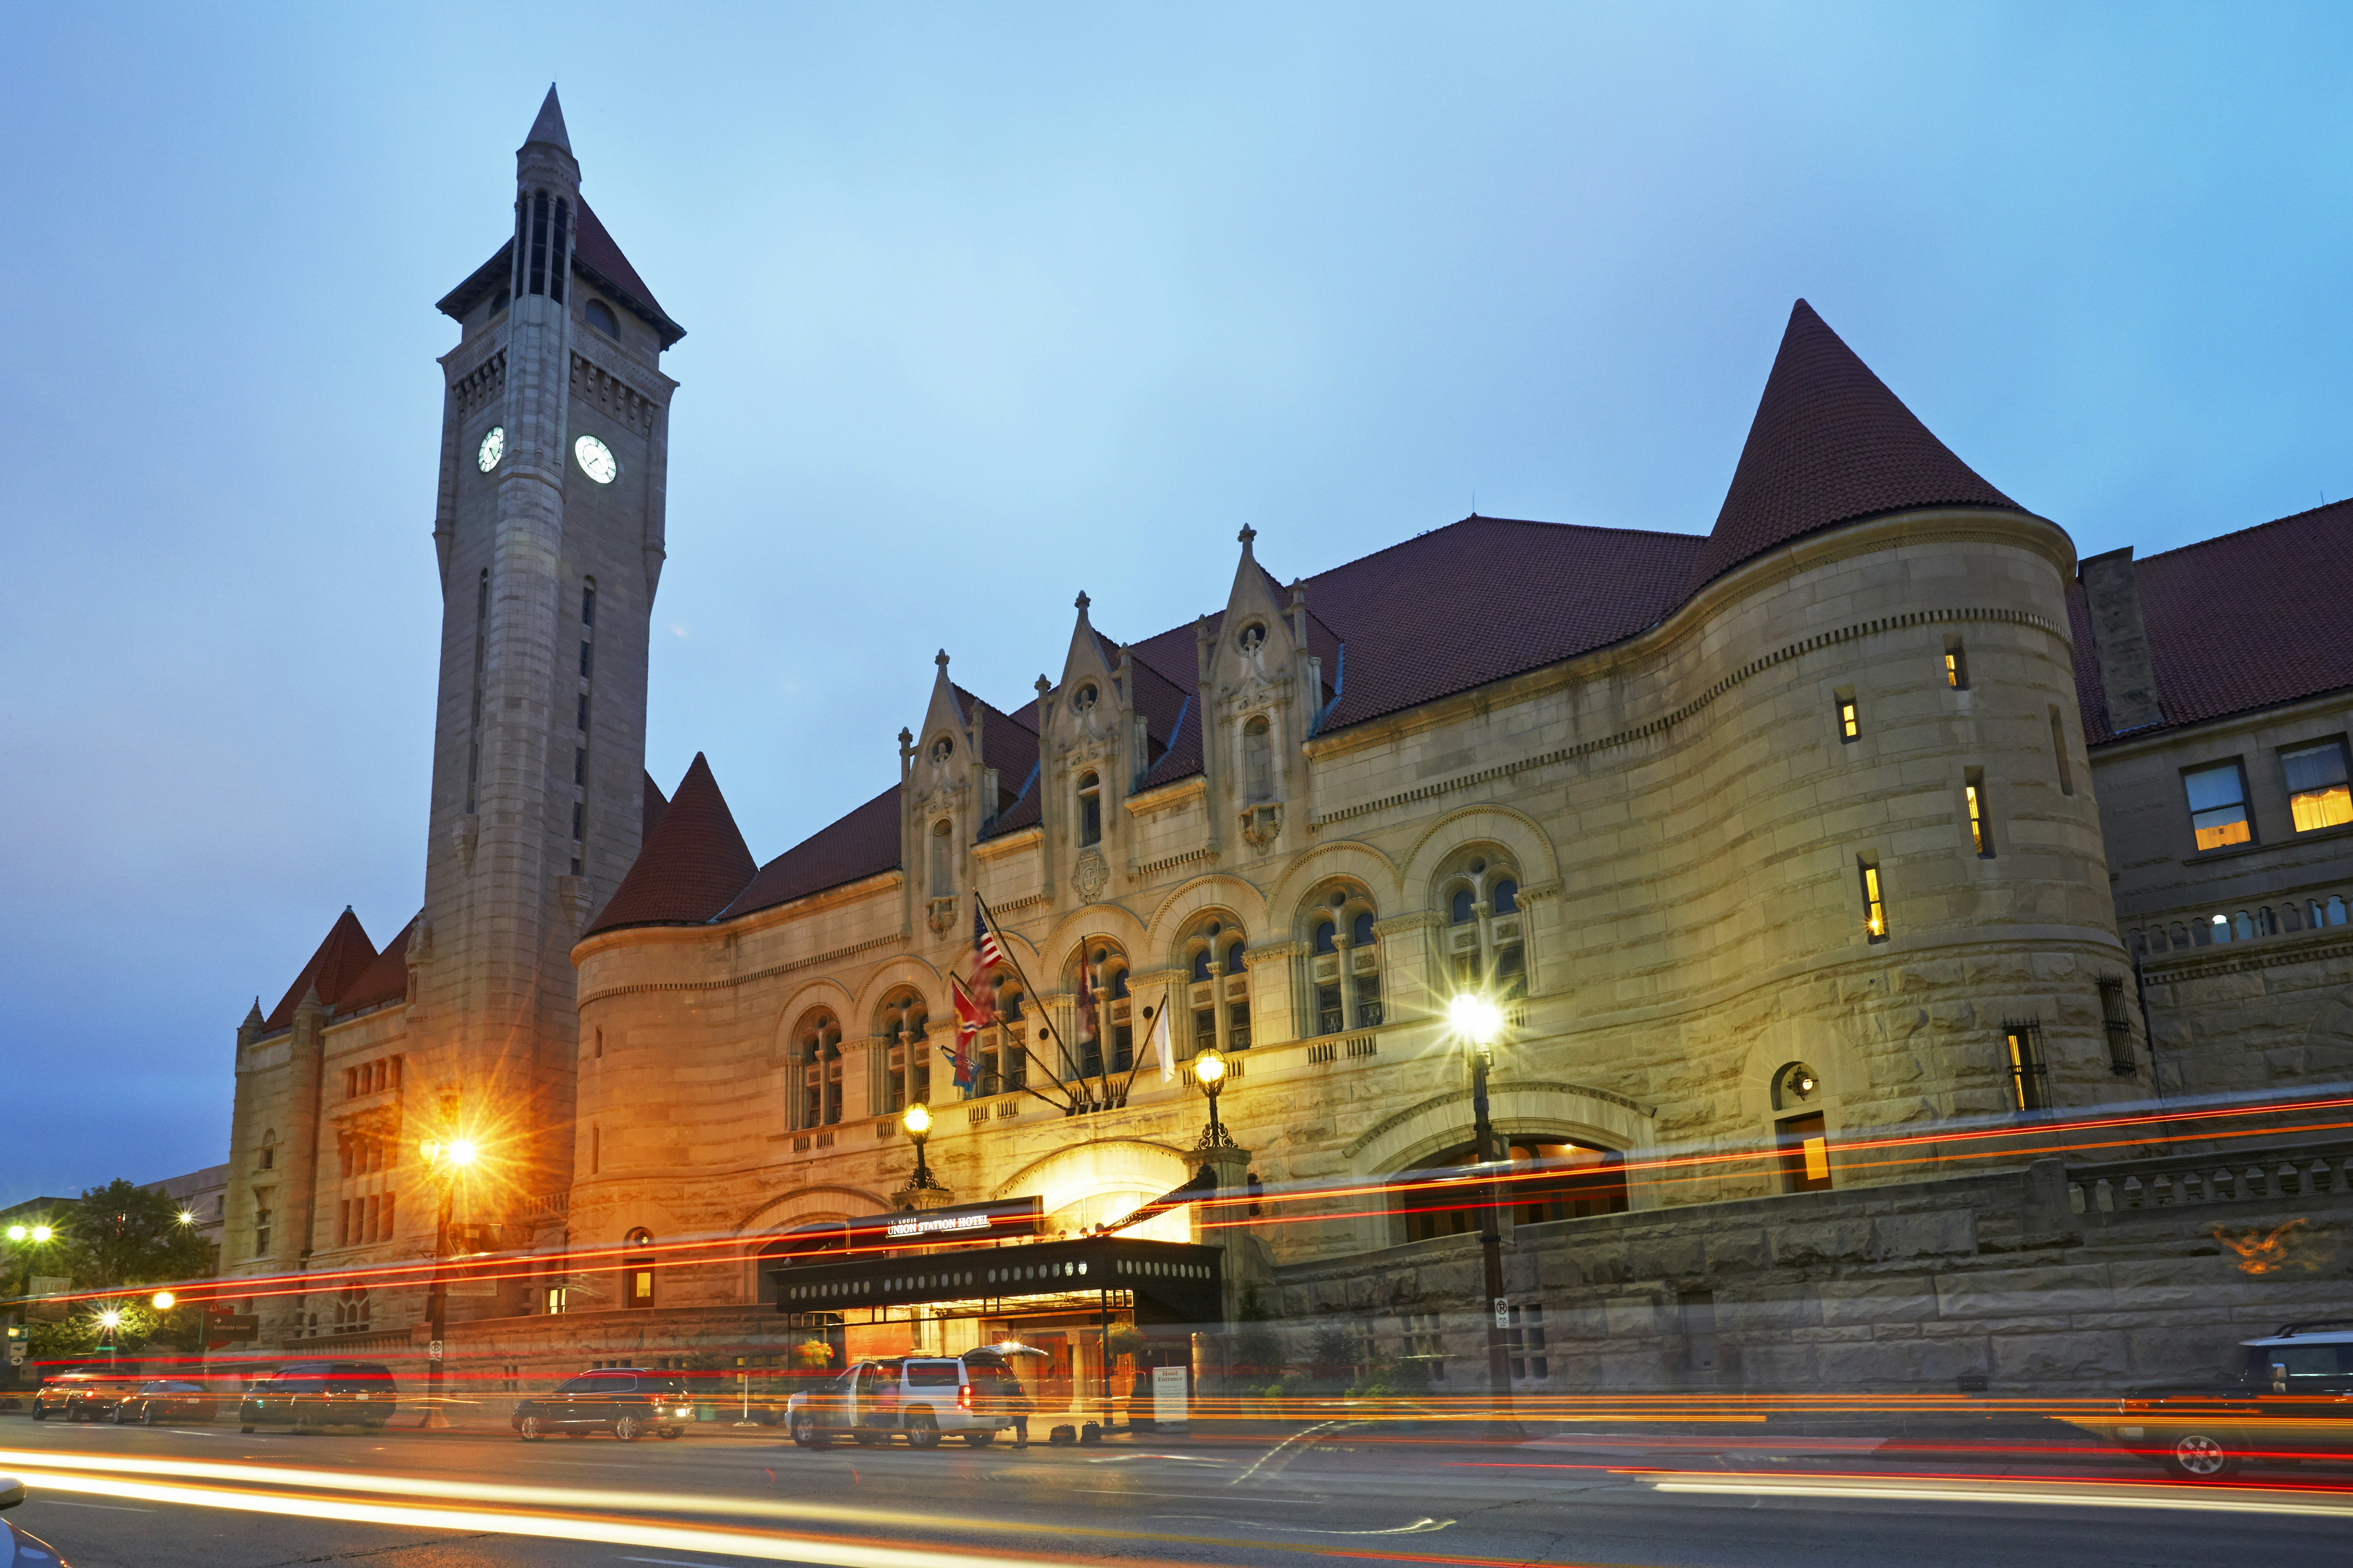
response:
[[[2184,1481],[2257,1465],[2353,1462],[2353,1319],[2242,1340],[2235,1378],[2129,1389],[2111,1441]]]

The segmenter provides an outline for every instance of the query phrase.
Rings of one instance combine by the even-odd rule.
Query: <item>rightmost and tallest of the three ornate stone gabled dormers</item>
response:
[[[1209,809],[1242,842],[1273,851],[1285,806],[1301,795],[1301,743],[1322,701],[1322,663],[1308,651],[1306,590],[1285,592],[1259,564],[1257,529],[1242,529],[1226,614],[1200,628],[1202,755]]]

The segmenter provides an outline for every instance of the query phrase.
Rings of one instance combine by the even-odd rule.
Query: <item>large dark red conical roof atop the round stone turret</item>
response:
[[[1802,534],[1925,505],[2026,510],[1953,456],[1800,299],[1687,585]]]

